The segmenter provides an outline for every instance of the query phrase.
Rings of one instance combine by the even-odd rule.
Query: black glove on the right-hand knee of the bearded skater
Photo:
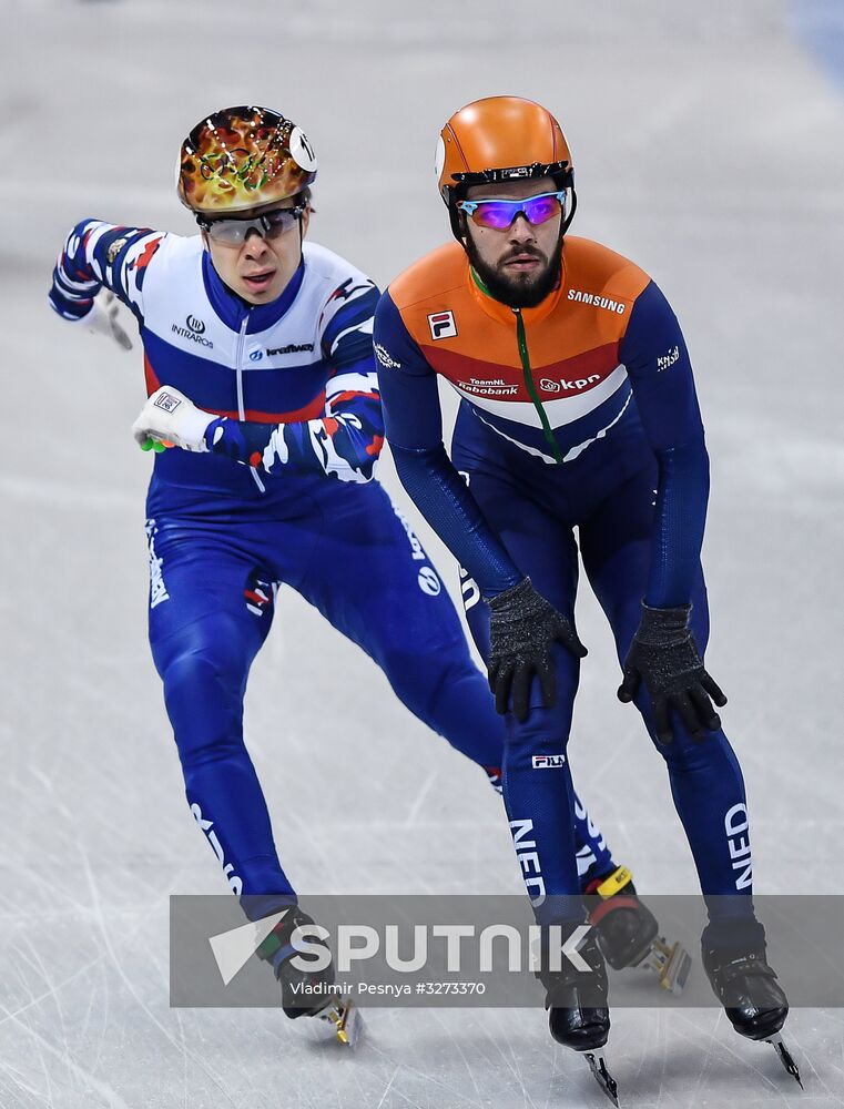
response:
[[[702,740],[703,730],[721,726],[712,701],[721,708],[726,698],[703,669],[694,637],[689,630],[691,604],[677,609],[652,609],[642,601],[642,619],[624,660],[619,701],[632,701],[644,680],[653,702],[657,739],[670,743],[674,735],[669,709],[674,708],[691,732]],[[712,698],[712,701],[710,701]]]

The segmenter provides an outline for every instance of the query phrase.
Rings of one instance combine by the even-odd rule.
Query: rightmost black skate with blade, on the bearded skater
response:
[[[780,1035],[789,1000],[766,952],[765,929],[753,919],[709,924],[701,937],[703,968],[730,1024],[740,1036],[771,1044],[802,1089],[797,1065]]]

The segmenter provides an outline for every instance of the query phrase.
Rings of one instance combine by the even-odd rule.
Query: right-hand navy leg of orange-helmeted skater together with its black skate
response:
[[[612,625],[622,662],[639,624],[648,579],[654,485],[650,470],[638,475],[580,529],[583,564]],[[700,570],[691,601],[691,628],[703,657],[709,612]],[[723,730],[693,740],[675,713],[673,741],[659,743],[643,686],[635,703],[665,760],[674,805],[709,908],[710,923],[701,940],[706,975],[735,1030],[774,1042],[783,1066],[800,1081],[794,1060],[779,1038],[789,1003],[767,965],[764,928],[753,909],[746,797],[735,754]]]

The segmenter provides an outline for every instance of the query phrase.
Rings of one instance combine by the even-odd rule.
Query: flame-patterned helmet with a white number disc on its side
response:
[[[295,196],[316,177],[302,128],[267,108],[223,108],[182,143],[179,199],[192,212],[223,215]]]

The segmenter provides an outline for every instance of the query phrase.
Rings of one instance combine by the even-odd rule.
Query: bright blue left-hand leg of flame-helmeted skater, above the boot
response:
[[[264,795],[243,741],[250,665],[273,619],[268,576],[224,541],[150,529],[155,581],[150,643],[191,811],[235,894],[256,919],[293,888],[278,863]],[[267,902],[256,899],[267,895]]]

